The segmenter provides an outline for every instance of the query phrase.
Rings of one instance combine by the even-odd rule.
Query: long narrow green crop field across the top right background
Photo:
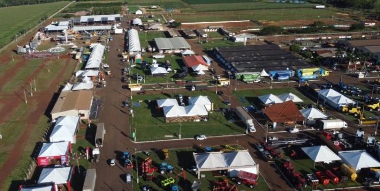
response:
[[[223,11],[207,12],[197,14],[173,14],[174,20],[182,23],[186,22],[211,22],[211,21],[284,21],[284,20],[308,20],[308,19],[329,19],[335,15],[330,10],[317,10],[312,8],[301,9],[264,9],[250,11]]]

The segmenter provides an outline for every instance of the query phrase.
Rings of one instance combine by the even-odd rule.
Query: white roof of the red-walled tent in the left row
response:
[[[39,157],[55,157],[66,155],[68,144],[68,141],[44,143],[41,148]]]

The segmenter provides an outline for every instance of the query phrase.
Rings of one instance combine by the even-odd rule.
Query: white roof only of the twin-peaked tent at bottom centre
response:
[[[200,169],[256,165],[248,151],[198,153],[194,158]]]

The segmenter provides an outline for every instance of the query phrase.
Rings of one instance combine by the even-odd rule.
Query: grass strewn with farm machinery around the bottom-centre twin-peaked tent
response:
[[[161,154],[160,151],[156,151],[156,152],[150,151],[149,158],[152,159],[152,161],[154,161],[154,164],[156,167],[159,168],[159,165],[162,162],[167,162],[169,165],[172,165],[174,167],[174,171],[171,174],[168,173],[164,175],[159,174],[158,172],[154,172],[156,176],[156,180],[153,180],[150,182],[144,181],[143,177],[139,177],[139,184],[137,184],[136,182],[137,174],[136,174],[136,171],[133,170],[133,184],[134,184],[135,190],[140,190],[141,189],[140,186],[146,185],[146,184],[150,184],[151,186],[154,187],[155,190],[164,190],[164,188],[162,188],[161,185],[159,185],[160,184],[159,182],[161,182],[161,180],[166,179],[168,177],[172,177],[175,179],[175,184],[180,187],[180,190],[191,190],[191,185],[193,181],[195,180],[201,182],[201,190],[212,190],[212,187],[213,187],[212,183],[214,181],[222,181],[226,177],[225,176],[214,177],[212,175],[212,172],[209,171],[209,172],[202,172],[202,174],[205,174],[205,178],[198,179],[195,173],[193,172],[191,173],[185,170],[186,181],[183,180],[182,175],[179,175],[179,177],[175,178],[175,175],[181,172],[180,170],[181,168],[187,169],[193,165],[192,164],[193,152],[197,152],[197,150],[195,149],[169,150],[170,159],[164,161],[159,156]],[[146,155],[142,153],[137,153],[136,155],[140,159],[146,158]],[[136,164],[136,161],[133,160],[133,163]],[[141,161],[139,161],[139,165],[140,164],[141,164]],[[139,169],[139,176],[141,175],[140,169]],[[231,185],[236,184],[236,182],[232,181],[231,179],[229,179],[229,182],[231,183]],[[251,188],[243,184],[239,185],[238,187],[239,187],[239,190],[252,190]],[[264,181],[262,176],[259,176],[258,186],[256,186],[253,190],[270,190],[270,188],[268,184]]]

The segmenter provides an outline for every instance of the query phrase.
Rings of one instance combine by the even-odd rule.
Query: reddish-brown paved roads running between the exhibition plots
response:
[[[122,22],[122,27],[126,27],[126,18]],[[208,137],[206,140],[197,141],[194,139],[181,139],[181,140],[168,140],[168,141],[155,141],[155,142],[143,142],[134,143],[131,141],[131,127],[129,126],[129,108],[123,106],[123,102],[129,100],[131,93],[127,89],[123,89],[120,78],[122,77],[122,69],[125,65],[121,62],[122,51],[117,51],[118,49],[124,50],[124,36],[114,35],[113,41],[109,42],[110,51],[108,56],[109,70],[112,71],[112,76],[106,76],[107,86],[102,88],[96,88],[96,95],[101,98],[103,105],[99,108],[99,122],[105,123],[106,134],[104,147],[100,149],[101,155],[98,163],[93,163],[92,167],[97,170],[97,181],[95,190],[132,190],[132,184],[125,183],[125,174],[131,173],[130,168],[123,168],[122,163],[117,163],[116,166],[109,166],[108,160],[116,158],[118,154],[129,151],[134,153],[135,151],[143,151],[150,149],[164,149],[164,148],[189,148],[193,146],[215,146],[215,145],[226,145],[226,144],[239,144],[250,151],[254,161],[259,164],[259,171],[262,176],[267,180],[269,186],[272,190],[292,190],[292,187],[287,184],[281,173],[278,172],[276,167],[271,162],[264,162],[258,152],[253,148],[253,144],[257,141],[261,141],[262,137],[265,136],[265,131],[259,128],[259,124],[255,123],[256,132],[249,133],[248,135],[240,136],[225,136],[225,137]],[[196,49],[199,54],[202,50]],[[214,62],[212,67],[216,70],[217,75],[223,74],[223,69],[217,66]],[[325,77],[322,80],[329,80],[333,83],[337,83],[341,77],[339,72],[332,72],[330,76]],[[358,78],[354,78],[348,75],[343,75],[344,81],[346,83],[361,83]],[[364,81],[364,79],[362,80]],[[238,81],[236,84],[237,89],[252,89],[252,88],[269,88],[270,84],[246,84],[242,81]],[[322,83],[322,82],[320,82]],[[179,85],[179,84],[173,84]],[[298,86],[297,82],[293,83],[274,83],[272,84],[274,88],[276,87],[287,87],[287,86]],[[149,88],[149,85],[144,86]],[[222,95],[223,100],[230,99],[229,95],[232,95],[231,88],[235,89],[235,81],[232,80],[230,87],[221,87],[218,90],[223,90],[225,95]],[[210,88],[209,90],[215,91],[215,89]],[[166,91],[166,90],[164,90]],[[171,90],[167,90],[172,92]],[[177,89],[176,92],[188,91],[186,89]],[[161,92],[161,90],[160,90]],[[158,93],[153,90],[148,90],[148,93]],[[231,97],[232,108],[236,106],[241,106],[241,104],[232,95]],[[334,116],[344,119],[340,113],[327,109],[329,113]],[[136,115],[136,114],[135,114]],[[359,127],[353,123],[349,123],[349,128],[346,130],[348,133],[355,133]],[[373,133],[372,127],[364,127],[364,130]],[[287,137],[294,136],[290,133],[271,133],[272,136]],[[135,189],[137,190],[137,189]]]

